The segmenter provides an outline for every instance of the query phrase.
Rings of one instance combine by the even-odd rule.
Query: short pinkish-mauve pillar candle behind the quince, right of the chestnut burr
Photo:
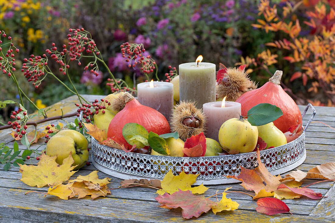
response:
[[[203,104],[204,113],[207,116],[205,136],[219,142],[219,130],[223,122],[231,118],[240,118],[241,104],[226,101],[225,107],[221,108],[222,102],[209,102]]]

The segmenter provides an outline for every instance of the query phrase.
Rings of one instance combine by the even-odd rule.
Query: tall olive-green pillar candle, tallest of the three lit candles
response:
[[[179,65],[179,100],[195,101],[198,108],[216,101],[215,64],[204,62]]]

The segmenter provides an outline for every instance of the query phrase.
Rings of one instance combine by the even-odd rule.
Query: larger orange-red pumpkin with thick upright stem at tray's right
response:
[[[302,116],[293,99],[280,86],[282,74],[282,71],[277,70],[265,85],[244,93],[236,102],[241,103],[243,116],[248,114],[249,109],[261,103],[269,103],[279,107],[283,111],[283,115],[273,124],[282,132],[286,132],[292,125],[302,124]]]

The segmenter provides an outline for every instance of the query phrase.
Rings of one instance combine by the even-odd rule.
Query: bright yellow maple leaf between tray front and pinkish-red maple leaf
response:
[[[184,171],[178,176],[173,175],[172,170],[166,173],[163,180],[161,181],[162,189],[157,190],[156,193],[163,195],[165,192],[173,194],[179,190],[190,190],[192,193],[204,193],[208,187],[203,184],[196,187],[191,187],[199,174],[186,174]]]

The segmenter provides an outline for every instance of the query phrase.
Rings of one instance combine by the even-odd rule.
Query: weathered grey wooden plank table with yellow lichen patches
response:
[[[103,98],[102,96],[85,95],[88,101]],[[74,103],[76,97],[71,96],[54,105],[48,112],[48,116],[72,113],[76,110]],[[299,106],[304,111],[305,106]],[[325,122],[335,126],[335,108],[316,107],[317,114],[313,121]],[[305,125],[310,118],[311,111],[308,111],[304,118]],[[66,118],[73,121],[75,116]],[[58,123],[58,121],[54,121]],[[50,124],[50,123],[48,123]],[[42,123],[41,126],[47,125]],[[13,147],[13,137],[9,135],[10,129],[0,131],[0,143],[5,142],[7,146]],[[44,144],[41,139],[31,148],[37,148]],[[19,143],[20,149],[25,149]],[[39,149],[43,150],[44,146]],[[312,123],[306,132],[307,158],[297,169],[308,171],[309,169],[326,162],[335,161],[335,131],[321,124]],[[90,160],[89,160],[90,161]],[[36,164],[36,159],[27,160],[26,163]],[[87,175],[95,170],[93,165],[85,166],[77,171],[73,177]],[[316,192],[320,192],[327,198],[312,200],[307,197],[294,200],[284,200],[293,215],[277,214],[266,216],[255,211],[257,204],[251,198],[242,193],[229,193],[227,198],[237,201],[240,206],[235,211],[223,211],[214,215],[211,211],[202,214],[199,218],[185,220],[181,216],[181,209],[167,210],[158,207],[155,201],[157,194],[154,189],[133,187],[111,190],[112,194],[103,198],[91,200],[84,199],[61,200],[54,196],[44,197],[40,193],[28,193],[29,190],[46,192],[48,187],[30,187],[20,181],[21,173],[19,168],[11,167],[9,171],[3,170],[0,164],[0,222],[334,222],[335,221],[335,188],[332,181],[322,182],[310,186]],[[99,172],[99,177],[108,175]],[[284,175],[284,174],[282,174]],[[120,185],[121,179],[112,177],[110,188]],[[304,185],[316,182],[317,180],[305,180]],[[205,196],[215,194],[216,190],[223,192],[226,187],[232,190],[246,191],[238,183],[213,185],[206,192]],[[214,200],[215,198],[213,198]]]

